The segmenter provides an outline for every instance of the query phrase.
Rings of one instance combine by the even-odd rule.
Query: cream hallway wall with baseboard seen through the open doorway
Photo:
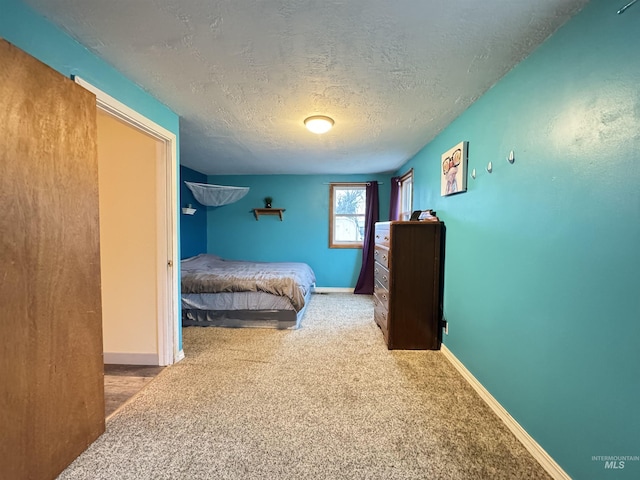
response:
[[[161,142],[101,109],[97,126],[104,362],[159,365]]]

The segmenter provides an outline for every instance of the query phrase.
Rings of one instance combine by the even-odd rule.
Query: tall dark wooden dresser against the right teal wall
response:
[[[441,341],[444,226],[378,222],[374,318],[389,350],[438,350]]]

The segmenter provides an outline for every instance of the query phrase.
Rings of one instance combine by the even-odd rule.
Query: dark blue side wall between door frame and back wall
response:
[[[198,203],[185,181],[207,183],[207,176],[190,168],[180,167],[180,207],[191,204],[196,209],[193,215],[184,215],[180,210],[181,259],[207,251],[207,209]]]

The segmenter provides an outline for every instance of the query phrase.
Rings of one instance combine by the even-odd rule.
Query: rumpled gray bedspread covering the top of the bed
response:
[[[286,296],[296,311],[315,283],[306,263],[225,260],[206,253],[181,262],[182,293],[266,292]]]

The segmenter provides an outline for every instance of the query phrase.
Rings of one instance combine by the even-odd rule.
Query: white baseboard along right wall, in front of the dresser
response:
[[[467,370],[467,368],[451,353],[446,345],[442,344],[440,350],[444,357],[451,362],[451,364],[460,372],[464,379],[473,387],[473,389],[480,395],[480,398],[498,415],[500,420],[504,422],[511,433],[524,445],[533,458],[544,468],[551,477],[556,480],[571,480],[571,477],[551,458],[551,456],[542,448],[538,442],[536,442],[527,431],[520,426],[520,424],[511,416],[500,403],[493,398],[493,395],[482,386],[482,384],[473,376],[473,374]]]

